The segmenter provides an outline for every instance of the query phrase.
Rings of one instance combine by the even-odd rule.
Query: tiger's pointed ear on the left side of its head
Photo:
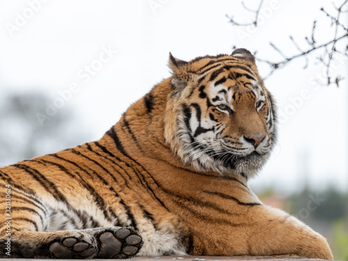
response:
[[[182,93],[182,90],[187,86],[187,64],[187,61],[177,59],[169,53],[169,68],[173,71],[171,83],[175,95]]]

